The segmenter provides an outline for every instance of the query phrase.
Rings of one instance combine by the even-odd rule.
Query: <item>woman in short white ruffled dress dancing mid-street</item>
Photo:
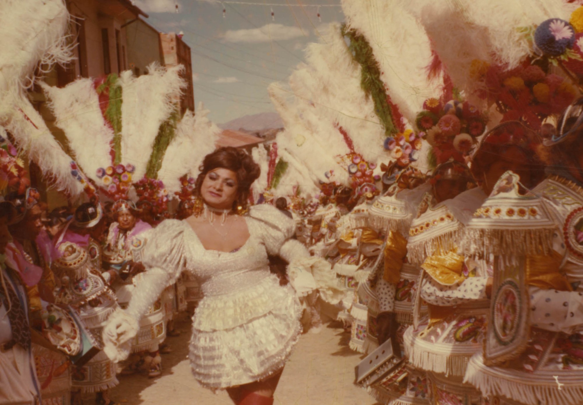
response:
[[[198,212],[145,233],[144,282],[127,310],[112,315],[104,329],[108,356],[127,356],[124,343],[138,331],[136,319],[186,270],[198,278],[204,295],[189,348],[195,379],[226,389],[238,405],[273,404],[301,333],[301,305],[294,290],[269,272],[268,253],[304,275],[314,259],[290,239],[294,222],[278,209],[256,205],[245,212],[258,176],[259,166],[244,151],[225,147],[205,157],[196,181]]]

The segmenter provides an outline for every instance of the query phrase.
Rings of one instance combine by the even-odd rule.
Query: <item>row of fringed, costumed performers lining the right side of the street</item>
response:
[[[391,339],[401,358],[366,386],[375,399],[583,403],[582,105],[557,131],[501,123],[469,164],[389,170],[381,197],[351,207],[340,192],[303,221],[348,293],[350,347]]]

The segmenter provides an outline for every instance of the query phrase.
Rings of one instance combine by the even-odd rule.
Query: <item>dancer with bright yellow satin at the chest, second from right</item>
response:
[[[468,186],[471,187],[473,177],[467,166],[458,161],[448,161],[438,166],[432,180],[433,193],[423,197],[417,218],[409,230],[408,261],[420,266],[422,271],[415,297],[413,325],[403,335],[403,346],[409,363],[417,370],[427,372],[429,381],[433,382],[431,372],[444,373],[448,378],[458,375],[461,381],[459,374],[464,370],[461,365],[463,354],[451,352],[452,342],[463,325],[470,324],[466,329],[469,326],[479,328],[479,322],[484,321],[487,301],[485,304],[477,301],[473,307],[464,305],[461,308],[455,302],[449,304],[452,306],[443,306],[443,301],[427,296],[424,290],[429,288],[428,285],[438,292],[455,290],[456,283],[466,277],[470,278],[468,283],[472,283],[476,280],[473,276],[483,275],[483,269],[473,263],[463,267],[463,257],[456,252],[464,223],[468,220],[466,217],[472,214],[475,207],[479,207],[485,195],[477,188],[465,191]],[[479,294],[480,290],[476,293]],[[422,300],[427,302],[429,319],[424,319],[420,324]],[[462,321],[466,318],[469,320]],[[475,337],[471,334],[463,337],[467,336],[464,341]],[[429,381],[424,383],[425,388],[431,385],[433,389],[429,392],[432,392],[434,400],[439,400],[434,392],[434,383]]]

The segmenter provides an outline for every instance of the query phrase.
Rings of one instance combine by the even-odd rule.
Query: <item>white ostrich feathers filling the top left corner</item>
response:
[[[0,2],[0,94],[33,85],[34,71],[73,59],[67,43],[69,22],[63,0],[2,0]],[[0,97],[0,115],[10,108]]]

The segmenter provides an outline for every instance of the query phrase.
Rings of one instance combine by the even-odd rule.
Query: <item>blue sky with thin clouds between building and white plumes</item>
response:
[[[204,102],[210,109],[209,118],[216,123],[275,111],[267,92],[269,83],[287,81],[303,61],[305,45],[318,41],[322,24],[344,19],[340,0],[236,1],[262,4],[224,2],[223,17],[219,2],[135,0],[149,14],[146,21],[154,28],[184,33],[182,39],[192,49],[195,104]],[[318,9],[311,5],[336,6]]]

